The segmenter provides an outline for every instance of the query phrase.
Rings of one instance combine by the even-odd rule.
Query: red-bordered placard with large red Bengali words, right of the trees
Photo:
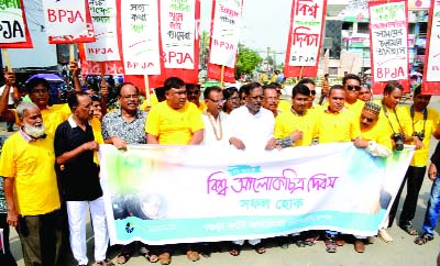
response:
[[[284,67],[285,77],[316,77],[327,0],[294,0]]]

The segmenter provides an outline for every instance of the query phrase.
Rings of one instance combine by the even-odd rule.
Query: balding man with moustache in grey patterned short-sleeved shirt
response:
[[[102,119],[102,137],[106,144],[113,144],[119,149],[127,149],[129,144],[145,144],[146,113],[139,109],[139,90],[130,82],[118,88],[120,109],[107,113]],[[119,264],[127,263],[133,255],[136,243],[123,246],[118,255]],[[148,254],[146,247],[140,244],[139,252],[150,262],[157,262],[157,256]]]

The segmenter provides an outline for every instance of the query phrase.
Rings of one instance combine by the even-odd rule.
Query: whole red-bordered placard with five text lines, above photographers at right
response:
[[[391,3],[405,4],[404,12],[398,13],[394,20],[391,19],[391,14],[396,14],[398,8],[389,7]],[[386,8],[381,9],[378,5]],[[375,10],[375,18],[372,18],[372,8]],[[408,3],[403,0],[371,0],[369,9],[373,93],[382,95],[389,80],[398,81],[404,87],[404,92],[409,92]],[[384,15],[381,16],[380,13],[384,13]],[[385,19],[376,20],[376,18]],[[400,64],[402,62],[404,64]]]

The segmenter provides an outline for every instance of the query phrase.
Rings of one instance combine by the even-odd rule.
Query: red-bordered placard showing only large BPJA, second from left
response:
[[[50,44],[96,41],[87,0],[43,0],[43,13]]]

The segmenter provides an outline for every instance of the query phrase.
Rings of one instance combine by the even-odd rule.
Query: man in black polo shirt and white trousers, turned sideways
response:
[[[99,265],[113,265],[106,258],[109,234],[99,168],[94,162],[95,141],[89,114],[91,99],[85,92],[68,97],[72,115],[55,132],[55,156],[63,198],[66,200],[70,247],[79,265],[87,265],[86,220],[90,209],[95,233],[95,259]]]

